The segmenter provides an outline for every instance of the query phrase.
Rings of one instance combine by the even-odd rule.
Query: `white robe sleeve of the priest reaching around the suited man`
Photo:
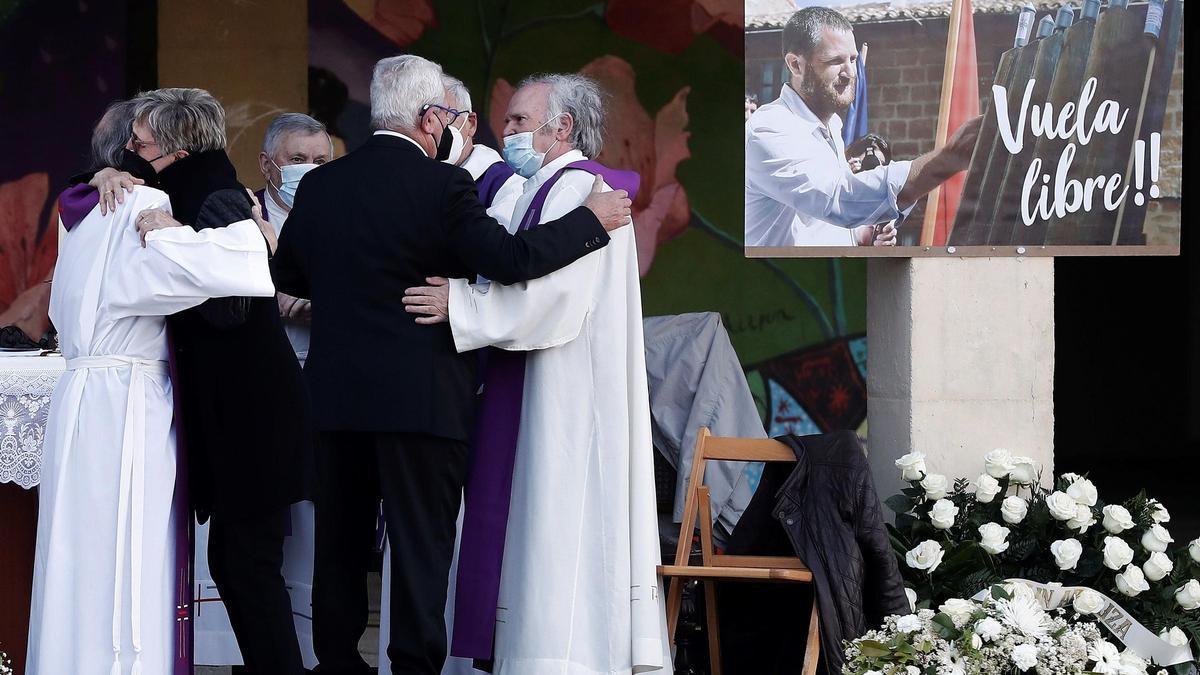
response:
[[[595,300],[601,249],[533,281],[502,286],[450,280],[450,330],[468,352],[493,346],[515,352],[570,342]]]

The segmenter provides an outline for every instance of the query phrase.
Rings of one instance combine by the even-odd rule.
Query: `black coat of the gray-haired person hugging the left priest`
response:
[[[251,217],[223,150],[158,174],[176,220],[196,229]],[[308,393],[275,298],[216,298],[168,317],[191,501],[202,514],[277,508],[310,495]]]

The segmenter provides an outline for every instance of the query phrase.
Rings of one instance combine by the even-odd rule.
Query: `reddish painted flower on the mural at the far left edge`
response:
[[[44,281],[58,255],[56,223],[41,223],[48,193],[44,173],[0,185],[0,325],[17,325],[35,340],[49,324],[50,285]]]

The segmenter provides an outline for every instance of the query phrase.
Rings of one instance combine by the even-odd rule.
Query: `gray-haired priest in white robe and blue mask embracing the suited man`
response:
[[[600,151],[602,123],[599,88],[582,76],[542,76],[516,91],[504,156],[528,180],[514,229],[576,208],[593,173],[608,171],[586,161]],[[568,168],[576,166],[583,168]],[[656,574],[637,252],[631,227],[611,237],[600,251],[534,281],[454,279],[409,289],[404,300],[408,311],[432,317],[424,321],[448,313],[460,352],[528,352],[496,603],[500,675],[672,671]],[[475,450],[482,452],[478,440]],[[469,527],[463,550],[468,536]],[[463,584],[460,575],[464,595]],[[468,645],[463,621],[460,609],[451,655],[486,657],[472,653],[478,645]]]

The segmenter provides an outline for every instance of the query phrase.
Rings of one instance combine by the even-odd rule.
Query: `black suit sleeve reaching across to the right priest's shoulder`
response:
[[[444,203],[443,222],[450,250],[467,269],[498,283],[545,276],[608,244],[608,233],[584,207],[533,229],[509,234],[487,215],[467,172],[455,172]],[[290,222],[289,217],[289,227]]]

